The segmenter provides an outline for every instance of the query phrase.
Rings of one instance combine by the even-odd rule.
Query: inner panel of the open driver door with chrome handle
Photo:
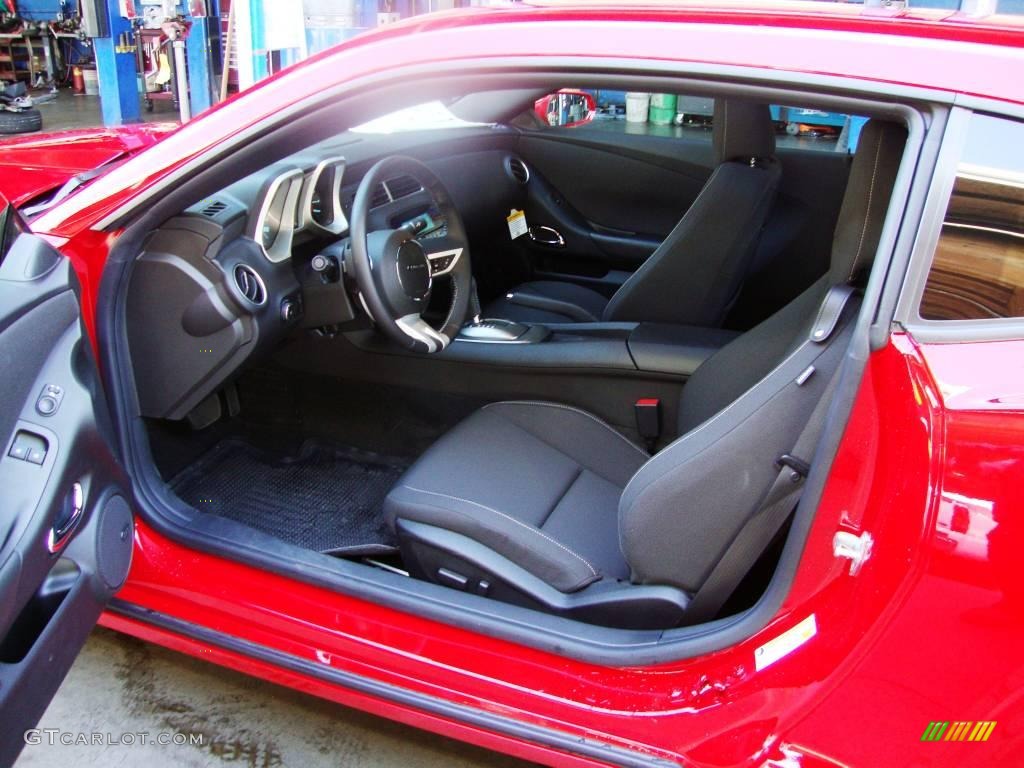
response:
[[[6,209],[0,251],[0,766],[124,582],[127,479],[79,315],[77,279]],[[24,227],[24,225],[20,225]],[[97,421],[97,415],[99,421]]]

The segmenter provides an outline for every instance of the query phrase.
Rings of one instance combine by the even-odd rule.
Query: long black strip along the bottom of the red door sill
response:
[[[532,723],[522,723],[518,720],[496,715],[489,712],[475,710],[465,705],[453,703],[435,696],[400,688],[390,683],[355,675],[344,670],[337,670],[314,664],[292,653],[257,645],[249,640],[225,635],[207,627],[191,622],[150,610],[123,600],[112,600],[108,610],[119,613],[137,622],[150,624],[163,630],[184,635],[210,645],[216,645],[224,650],[272,664],[275,667],[296,672],[301,675],[321,678],[331,683],[344,686],[359,693],[367,693],[378,698],[413,707],[431,715],[439,715],[450,720],[456,720],[468,725],[484,728],[502,735],[512,736],[523,741],[543,746],[552,746],[581,757],[593,758],[610,765],[628,766],[629,768],[679,768],[679,763],[643,755],[642,753],[615,746],[614,744],[596,741],[592,738],[581,738],[563,731]]]

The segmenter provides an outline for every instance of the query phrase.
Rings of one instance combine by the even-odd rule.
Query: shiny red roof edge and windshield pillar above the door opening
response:
[[[629,65],[635,72],[664,67],[769,87],[802,83],[805,90],[841,87],[885,100],[956,100],[1024,117],[1024,26],[852,7],[706,0],[671,6],[517,4],[415,16],[317,53],[218,104],[163,139],[160,158],[141,153],[34,226],[60,236],[83,225],[109,226],[123,190],[141,189],[169,172],[166,157],[186,162],[245,135],[262,116],[298,109],[340,83],[400,71],[455,73],[467,66],[486,69],[488,61],[511,68],[530,60],[571,80],[578,66],[615,71]]]

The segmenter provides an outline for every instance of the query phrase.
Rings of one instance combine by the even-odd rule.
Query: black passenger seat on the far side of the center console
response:
[[[780,170],[766,104],[715,102],[718,165],[657,250],[609,300],[572,283],[524,283],[484,307],[521,323],[659,322],[720,326],[775,200]]]

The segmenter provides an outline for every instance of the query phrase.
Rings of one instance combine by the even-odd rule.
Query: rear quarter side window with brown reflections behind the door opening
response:
[[[920,314],[1024,316],[1024,124],[974,115]]]

